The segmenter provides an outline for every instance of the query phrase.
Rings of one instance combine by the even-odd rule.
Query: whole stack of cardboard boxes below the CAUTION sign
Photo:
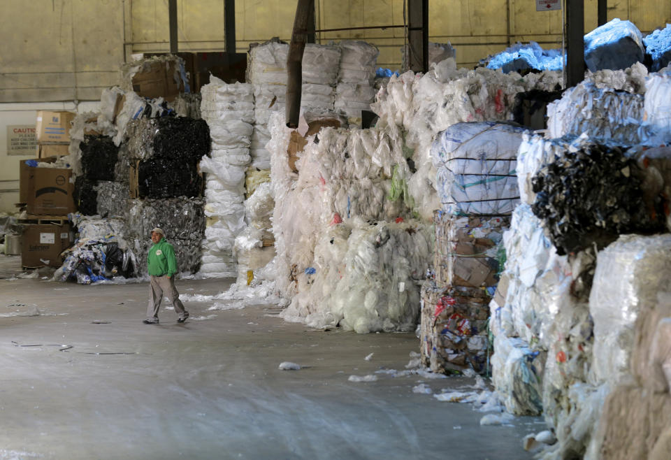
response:
[[[37,158],[20,161],[23,268],[59,267],[61,253],[73,243],[68,213],[75,211],[72,170],[62,160],[68,154],[71,112],[39,110]]]

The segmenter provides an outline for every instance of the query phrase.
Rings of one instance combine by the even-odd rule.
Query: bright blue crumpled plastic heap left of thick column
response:
[[[480,64],[487,69],[501,69],[503,73],[529,71],[561,71],[561,50],[544,50],[535,41],[516,43],[505,50],[482,59]]]

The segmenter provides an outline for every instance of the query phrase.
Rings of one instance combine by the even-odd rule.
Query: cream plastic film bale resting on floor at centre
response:
[[[298,294],[280,313],[290,322],[324,328],[407,331],[419,314],[419,287],[433,250],[421,222],[354,219],[319,235],[311,266],[296,270]]]

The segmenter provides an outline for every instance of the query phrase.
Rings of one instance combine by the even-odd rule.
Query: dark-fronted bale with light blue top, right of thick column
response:
[[[617,18],[585,36],[585,63],[592,71],[623,70],[643,62],[643,37],[630,21]]]

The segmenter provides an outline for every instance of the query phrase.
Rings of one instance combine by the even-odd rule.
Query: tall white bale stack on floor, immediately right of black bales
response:
[[[201,88],[201,113],[212,136],[210,157],[203,156],[205,216],[201,275],[208,278],[238,274],[233,245],[245,228],[245,171],[250,164],[254,123],[252,85],[228,85],[218,78]]]

